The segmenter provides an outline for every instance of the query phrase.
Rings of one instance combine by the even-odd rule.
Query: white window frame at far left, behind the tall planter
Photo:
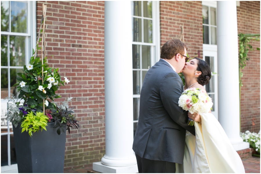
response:
[[[26,2],[26,1],[24,1]],[[9,1],[9,8],[10,8]],[[9,36],[26,36],[25,45],[26,45],[26,60],[25,63],[29,63],[30,57],[32,56],[32,48],[35,49],[36,47],[36,1],[27,1],[27,33],[17,33],[17,32],[2,32],[1,35],[7,35],[8,37],[8,66],[1,66],[1,69],[8,69],[8,97],[10,97],[10,69],[23,69],[23,66],[10,66],[10,44],[9,44]],[[9,11],[11,11],[9,9]],[[10,12],[11,13],[11,12]],[[11,25],[11,14],[9,13],[9,29]],[[7,103],[6,100],[1,99],[1,103]],[[2,114],[2,113],[1,113]],[[4,115],[1,115],[1,119],[4,117]],[[3,127],[1,127],[3,128]],[[8,166],[1,166],[1,173],[8,171],[14,172],[17,171],[17,164],[11,165],[11,158],[10,158],[10,134],[13,134],[13,132],[10,132],[10,122],[7,121],[7,132],[1,133],[1,136],[7,135],[8,137]]]

